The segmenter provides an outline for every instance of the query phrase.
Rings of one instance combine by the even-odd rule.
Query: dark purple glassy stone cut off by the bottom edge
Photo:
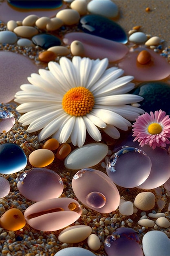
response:
[[[107,255],[144,255],[141,249],[139,236],[134,229],[120,227],[108,236],[104,242]]]

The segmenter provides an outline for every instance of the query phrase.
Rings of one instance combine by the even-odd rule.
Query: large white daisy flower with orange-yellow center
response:
[[[49,62],[49,70],[31,74],[31,84],[21,85],[15,94],[15,101],[21,104],[16,110],[25,113],[18,121],[29,125],[28,132],[41,130],[39,141],[53,135],[60,143],[70,138],[74,146],[81,147],[86,130],[95,141],[101,141],[99,128],[118,139],[117,128],[128,130],[130,121],[144,113],[135,104],[143,98],[126,94],[135,86],[130,83],[133,76],[120,77],[123,70],[107,66],[107,58],[74,56],[72,62],[60,58],[60,65]]]

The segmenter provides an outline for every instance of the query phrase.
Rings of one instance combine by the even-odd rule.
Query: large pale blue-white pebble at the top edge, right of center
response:
[[[88,3],[87,9],[90,13],[107,18],[115,18],[118,15],[117,5],[110,0],[92,0]]]

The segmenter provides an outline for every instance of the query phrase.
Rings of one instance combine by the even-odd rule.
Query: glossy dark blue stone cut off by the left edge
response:
[[[14,143],[0,144],[0,173],[17,173],[26,167],[27,158],[20,146]]]

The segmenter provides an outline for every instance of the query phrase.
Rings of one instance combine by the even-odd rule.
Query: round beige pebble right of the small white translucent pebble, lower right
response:
[[[149,211],[155,206],[155,195],[152,192],[141,192],[135,197],[135,206],[143,211]]]

